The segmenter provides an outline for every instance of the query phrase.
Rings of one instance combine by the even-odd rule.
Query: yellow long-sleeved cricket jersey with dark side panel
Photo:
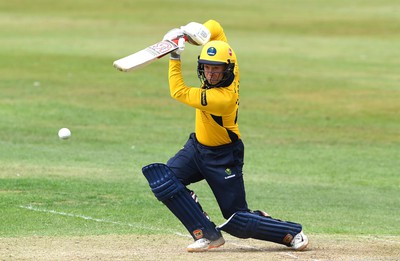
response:
[[[221,25],[209,20],[204,25],[212,40],[227,42]],[[228,87],[198,88],[187,86],[181,72],[181,61],[169,61],[171,97],[196,108],[196,138],[206,146],[220,146],[240,139],[237,113],[239,107],[239,67],[236,60],[235,79]]]

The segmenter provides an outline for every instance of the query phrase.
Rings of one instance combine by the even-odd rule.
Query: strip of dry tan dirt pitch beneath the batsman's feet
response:
[[[307,251],[225,236],[223,247],[188,253],[184,236],[0,238],[1,260],[400,260],[400,237],[309,235]]]

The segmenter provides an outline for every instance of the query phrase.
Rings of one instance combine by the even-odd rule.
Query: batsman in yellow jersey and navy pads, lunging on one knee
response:
[[[142,172],[156,198],[186,227],[194,242],[189,252],[225,243],[222,231],[238,238],[275,242],[303,250],[308,238],[301,224],[272,218],[247,206],[243,182],[244,145],[238,126],[239,65],[221,25],[215,20],[191,22],[170,30],[164,40],[179,39],[170,54],[169,90],[173,99],[195,109],[195,132],[166,164],[153,163]],[[197,75],[201,86],[185,84],[181,53],[185,41],[203,46]],[[188,185],[206,181],[226,222],[216,226]]]

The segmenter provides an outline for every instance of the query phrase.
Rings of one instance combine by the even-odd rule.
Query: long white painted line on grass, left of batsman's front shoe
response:
[[[36,211],[36,212],[44,212],[44,213],[56,214],[56,215],[67,216],[67,217],[82,218],[85,220],[101,222],[101,223],[110,223],[110,224],[114,224],[114,225],[128,226],[128,227],[134,227],[134,228],[146,229],[146,230],[152,230],[152,231],[169,231],[167,229],[148,227],[148,226],[143,226],[143,225],[139,225],[139,224],[131,224],[131,223],[124,223],[124,222],[120,222],[120,221],[112,221],[112,220],[107,220],[107,219],[94,218],[94,217],[90,217],[90,216],[60,212],[60,211],[55,211],[55,210],[51,210],[51,209],[50,210],[49,209],[41,209],[41,208],[34,207],[32,205],[19,206],[19,207],[28,209],[28,210],[32,210],[32,211]],[[183,235],[182,233],[179,233],[179,232],[175,232],[175,231],[169,231],[169,232],[173,233],[175,235],[178,235],[178,236],[186,237],[186,235]]]

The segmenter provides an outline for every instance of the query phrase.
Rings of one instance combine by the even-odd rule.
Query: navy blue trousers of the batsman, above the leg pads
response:
[[[243,182],[244,145],[241,140],[218,147],[200,144],[194,133],[168,162],[183,185],[206,180],[228,219],[237,211],[249,211]]]

